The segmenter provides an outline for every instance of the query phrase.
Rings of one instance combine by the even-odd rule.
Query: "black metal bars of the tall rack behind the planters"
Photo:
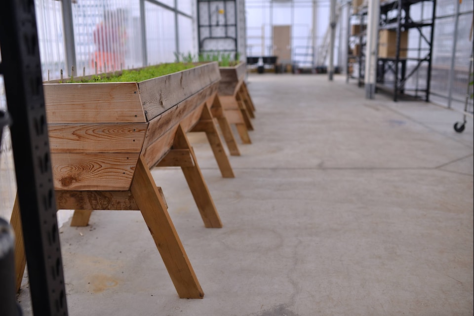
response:
[[[200,21],[200,3],[206,3],[207,2],[207,14],[208,14],[208,24],[201,24]],[[223,2],[224,3],[224,24],[212,24],[211,23],[211,3],[212,2]],[[227,8],[228,8],[228,3],[233,2],[234,3],[234,14],[235,14],[235,21],[236,23],[234,24],[229,24],[227,23]],[[213,27],[224,27],[225,28],[225,36],[212,36],[212,29]],[[229,36],[229,27],[234,27],[236,30],[236,36],[235,38],[232,36]],[[202,28],[209,28],[209,37],[201,37],[201,29]],[[206,50],[203,49],[204,42],[206,40],[234,40],[234,45],[235,49],[213,49],[213,50]],[[197,0],[197,41],[198,41],[198,49],[199,53],[203,52],[210,52],[210,51],[225,51],[225,52],[238,52],[238,29],[237,29],[237,1],[236,0]]]

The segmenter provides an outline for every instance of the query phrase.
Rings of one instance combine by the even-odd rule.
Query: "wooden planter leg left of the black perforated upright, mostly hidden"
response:
[[[13,211],[11,213],[10,225],[15,232],[15,274],[16,274],[16,291],[20,290],[21,280],[25,273],[26,254],[25,244],[23,240],[23,230],[21,228],[20,217],[20,201],[18,200],[18,193],[13,204]]]

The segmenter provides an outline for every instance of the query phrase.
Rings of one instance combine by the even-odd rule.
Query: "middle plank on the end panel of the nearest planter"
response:
[[[48,124],[52,153],[140,153],[148,123]]]

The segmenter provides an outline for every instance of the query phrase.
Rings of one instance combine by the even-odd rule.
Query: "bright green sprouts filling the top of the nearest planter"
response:
[[[156,66],[144,67],[138,70],[123,70],[119,75],[106,76],[104,74],[93,76],[89,79],[70,79],[66,83],[92,83],[92,82],[140,82],[152,78],[157,78],[186,69],[196,67],[190,63],[171,63]],[[60,82],[61,83],[61,82]]]

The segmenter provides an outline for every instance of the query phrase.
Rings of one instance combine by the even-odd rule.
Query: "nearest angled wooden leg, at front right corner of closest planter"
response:
[[[180,298],[203,298],[193,267],[184,251],[155,181],[142,158],[138,159],[130,190],[157,245]]]

